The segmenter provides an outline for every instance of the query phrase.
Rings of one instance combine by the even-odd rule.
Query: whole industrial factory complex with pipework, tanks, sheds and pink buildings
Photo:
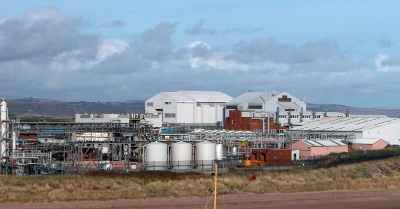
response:
[[[73,123],[9,120],[0,98],[0,174],[90,171],[209,172],[215,162],[290,168],[292,162],[399,144],[400,118],[307,110],[284,91],[232,98],[221,91],[160,92],[144,113],[77,113]]]

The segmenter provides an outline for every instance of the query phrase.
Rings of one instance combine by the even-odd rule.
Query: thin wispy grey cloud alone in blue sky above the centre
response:
[[[202,19],[198,21],[194,26],[187,27],[184,33],[188,35],[227,35],[230,33],[237,33],[240,35],[247,33],[255,33],[263,30],[264,28],[254,28],[254,29],[242,29],[242,28],[232,28],[227,30],[214,30],[204,28],[205,20]]]

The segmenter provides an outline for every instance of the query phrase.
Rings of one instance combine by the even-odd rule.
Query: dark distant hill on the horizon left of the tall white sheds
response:
[[[92,113],[144,113],[144,101],[126,102],[63,102],[35,98],[7,99],[9,116],[23,114],[49,117],[75,117],[75,114]]]

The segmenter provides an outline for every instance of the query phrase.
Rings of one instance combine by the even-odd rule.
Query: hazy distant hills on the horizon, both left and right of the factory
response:
[[[36,98],[6,99],[8,115],[40,115],[45,117],[72,118],[75,114],[92,113],[144,113],[144,101],[132,100],[125,102],[64,102],[56,100],[45,100]],[[307,103],[307,111],[313,108],[317,112],[340,112],[345,113],[348,109],[353,115],[387,115],[389,117],[400,117],[400,108],[356,108],[337,104],[311,104]]]

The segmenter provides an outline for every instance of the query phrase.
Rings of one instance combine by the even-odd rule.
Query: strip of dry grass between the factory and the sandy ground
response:
[[[224,174],[219,194],[256,194],[400,187],[400,157],[336,168]],[[0,202],[84,201],[151,197],[206,196],[213,186],[207,174],[172,172],[93,172],[83,176],[0,176]]]

